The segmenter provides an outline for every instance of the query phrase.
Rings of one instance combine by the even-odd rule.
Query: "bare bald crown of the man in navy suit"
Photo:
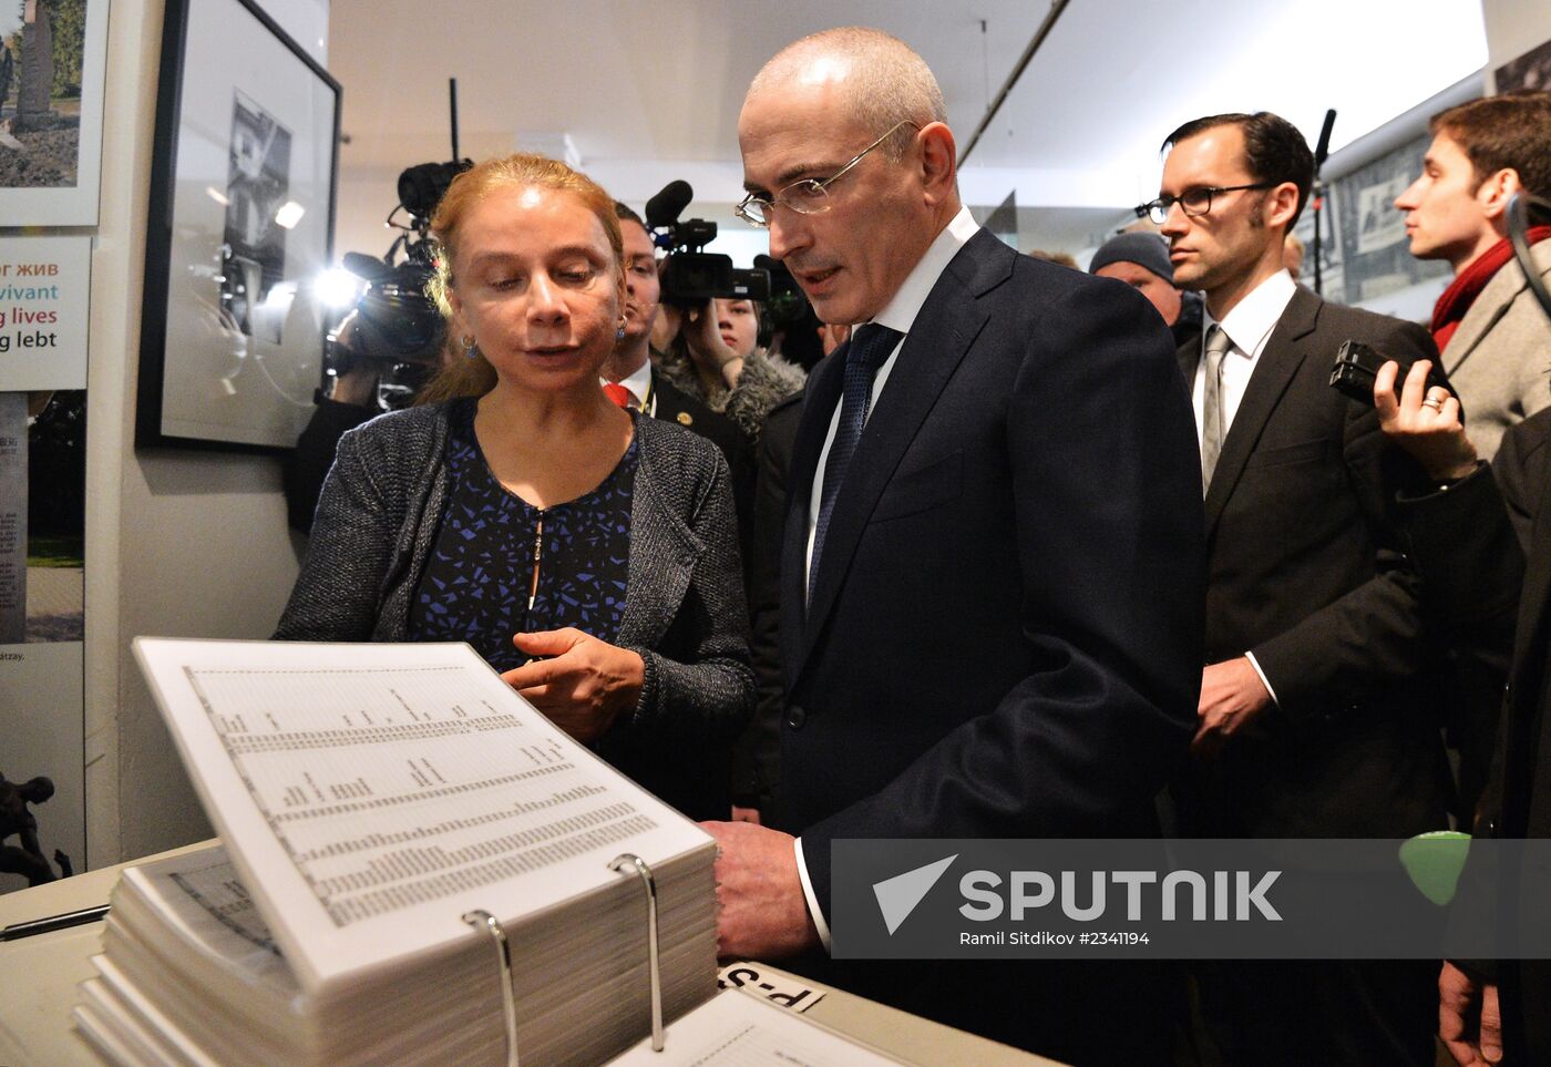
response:
[[[838,26],[794,40],[765,64],[746,101],[793,85],[834,84],[847,118],[864,130],[901,127],[881,150],[898,160],[915,130],[946,123],[943,90],[926,60],[893,34],[869,26]]]

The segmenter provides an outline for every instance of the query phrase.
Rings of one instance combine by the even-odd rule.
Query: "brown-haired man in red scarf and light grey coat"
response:
[[[1508,240],[1508,199],[1551,199],[1551,93],[1508,93],[1433,116],[1422,175],[1394,202],[1418,259],[1447,259],[1453,284],[1433,309],[1433,340],[1491,459],[1503,433],[1551,406],[1551,323]],[[1531,243],[1551,236],[1534,226]],[[1551,243],[1534,250],[1551,282]]]

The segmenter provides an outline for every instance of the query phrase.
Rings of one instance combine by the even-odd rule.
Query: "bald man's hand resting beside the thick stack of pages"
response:
[[[779,960],[819,944],[794,837],[749,822],[700,824],[717,844],[717,955]]]

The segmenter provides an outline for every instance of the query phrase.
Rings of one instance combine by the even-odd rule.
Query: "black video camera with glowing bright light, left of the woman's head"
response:
[[[330,375],[344,375],[361,363],[377,364],[378,392],[386,406],[408,403],[440,358],[445,324],[427,293],[436,275],[431,214],[453,178],[472,166],[472,160],[454,160],[405,169],[399,175],[399,205],[386,222],[402,231],[392,247],[382,259],[358,251],[344,254],[344,268],[364,281],[366,288],[329,330],[324,368]],[[399,219],[400,212],[408,222]]]

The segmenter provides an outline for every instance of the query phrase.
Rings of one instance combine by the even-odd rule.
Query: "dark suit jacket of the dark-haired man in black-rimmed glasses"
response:
[[[1298,288],[1256,361],[1207,492],[1207,662],[1253,651],[1276,704],[1193,761],[1194,836],[1404,837],[1444,828],[1447,772],[1418,578],[1371,405],[1329,386],[1342,341],[1436,360],[1418,326]],[[1179,350],[1185,382],[1199,346]]]

